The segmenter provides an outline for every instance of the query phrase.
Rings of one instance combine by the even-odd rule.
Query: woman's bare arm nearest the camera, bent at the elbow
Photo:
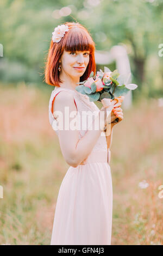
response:
[[[61,91],[55,97],[53,111],[62,112],[63,127],[65,127],[65,107],[69,108],[69,113],[74,111],[77,114],[77,108],[74,103],[73,95],[65,91]],[[101,111],[104,111],[102,109]],[[99,111],[99,113],[101,111]],[[69,123],[71,123],[71,121],[74,119],[74,117],[72,118],[67,117],[67,118],[69,120]],[[93,120],[93,122],[95,122],[95,120]],[[93,125],[92,127],[95,127],[95,126]],[[58,130],[60,148],[66,162],[70,166],[77,167],[91,153],[102,131],[103,131],[103,127],[101,129],[101,127],[99,126],[98,130],[93,130],[93,129],[88,130],[85,133],[84,137],[79,139],[78,130],[71,130],[71,129]]]

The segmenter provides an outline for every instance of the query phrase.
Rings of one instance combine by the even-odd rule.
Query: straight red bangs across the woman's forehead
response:
[[[95,43],[84,29],[73,28],[68,36],[65,36],[63,47],[66,52],[90,51],[91,53],[95,49]]]

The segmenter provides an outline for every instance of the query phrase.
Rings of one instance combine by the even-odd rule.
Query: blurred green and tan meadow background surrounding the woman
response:
[[[131,72],[114,126],[112,245],[163,245],[163,1],[0,2],[0,245],[49,245],[68,164],[48,121],[44,66],[54,28],[78,21],[96,69]]]

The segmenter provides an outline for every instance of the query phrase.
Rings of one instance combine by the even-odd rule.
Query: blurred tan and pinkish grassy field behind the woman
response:
[[[0,245],[51,241],[59,187],[69,167],[48,121],[52,89],[0,86]],[[112,245],[163,245],[162,112],[158,100],[140,99],[114,126]]]

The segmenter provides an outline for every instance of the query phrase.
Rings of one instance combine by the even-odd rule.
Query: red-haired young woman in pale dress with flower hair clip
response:
[[[95,43],[89,32],[79,23],[66,22],[55,28],[48,52],[45,81],[55,86],[49,100],[49,122],[56,131],[61,153],[70,165],[62,180],[55,216],[51,245],[111,245],[112,179],[104,126],[89,130],[89,122],[82,113],[106,113],[75,89],[96,72]],[[121,103],[112,101],[111,121],[123,119]],[[68,109],[69,115],[65,109]],[[116,108],[116,114],[112,109]],[[59,118],[61,114],[62,120]],[[71,115],[73,113],[73,115]],[[65,129],[74,124],[74,117],[82,123],[80,129]],[[99,119],[98,119],[99,120]],[[57,129],[62,123],[63,129]],[[111,144],[111,133],[107,142]],[[61,126],[60,126],[61,127]],[[110,151],[109,151],[110,152]]]

